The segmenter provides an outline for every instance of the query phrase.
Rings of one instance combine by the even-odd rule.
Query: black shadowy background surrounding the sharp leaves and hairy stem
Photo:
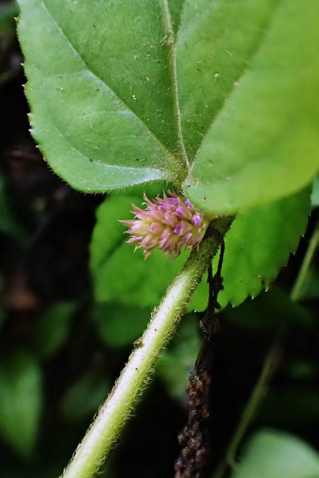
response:
[[[96,207],[104,197],[72,190],[50,171],[35,147],[28,132],[23,58],[15,23],[6,20],[4,10],[8,5],[0,2],[0,207],[6,208],[9,217],[0,222],[0,363],[10,381],[6,364],[13,355],[23,351],[35,358],[42,377],[42,404],[35,443],[28,453],[8,439],[0,419],[0,476],[53,478],[84,436],[131,345],[107,346],[95,326],[89,241]],[[289,300],[317,221],[318,209],[313,210],[296,256],[281,271],[271,292],[220,316],[221,331],[213,343],[212,470],[223,459],[283,324],[276,370],[247,436],[271,426],[318,445],[319,334],[314,320],[318,267],[301,303]],[[43,317],[52,319],[53,329],[58,320],[65,320],[62,338],[47,337],[40,326]],[[189,321],[197,324],[199,319],[200,314],[193,314]],[[186,420],[185,404],[185,394],[172,397],[169,386],[155,374],[111,452],[107,476],[172,477],[179,453],[177,433]]]

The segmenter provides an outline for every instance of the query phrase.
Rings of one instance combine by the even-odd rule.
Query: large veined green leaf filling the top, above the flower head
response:
[[[315,175],[315,1],[19,3],[31,131],[75,188],[184,181],[233,214]]]

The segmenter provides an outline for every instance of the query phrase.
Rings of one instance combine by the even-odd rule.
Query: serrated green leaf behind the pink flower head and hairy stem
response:
[[[116,218],[128,217],[128,204],[140,198],[114,195],[99,207],[91,241],[91,272],[97,302],[118,302],[133,307],[152,308],[184,265],[187,254],[172,260],[161,251],[143,261],[142,251],[125,243],[123,226]],[[296,251],[306,229],[310,211],[310,188],[289,198],[238,215],[225,237],[222,307],[236,306],[249,295],[256,297],[276,278],[289,254]],[[216,264],[218,257],[214,263]],[[125,280],[123,280],[125,277]],[[201,312],[208,302],[204,277],[187,308]]]

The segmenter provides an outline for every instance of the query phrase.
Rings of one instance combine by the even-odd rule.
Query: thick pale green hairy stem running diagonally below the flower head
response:
[[[225,234],[230,220],[214,224]],[[89,478],[98,470],[113,445],[142,389],[149,380],[152,368],[176,329],[196,285],[218,249],[218,239],[208,236],[198,251],[192,252],[181,273],[167,290],[159,307],[155,309],[147,329],[128,359],[116,385],[89,431],[79,444],[74,457],[62,475],[63,478]]]

